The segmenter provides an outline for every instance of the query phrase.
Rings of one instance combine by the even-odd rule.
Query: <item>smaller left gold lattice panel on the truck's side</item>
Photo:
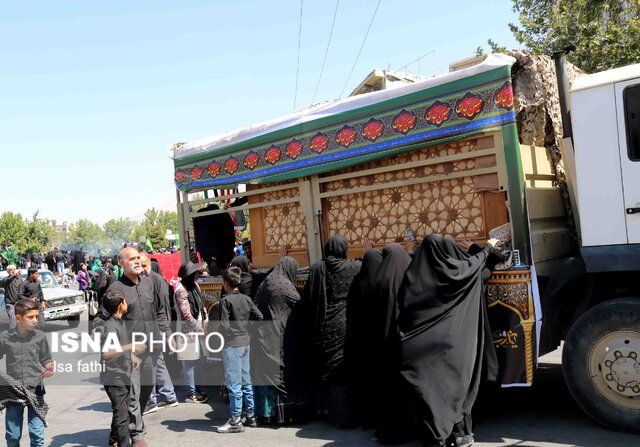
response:
[[[265,193],[262,201],[282,200],[298,196],[298,189],[284,189]],[[265,250],[277,252],[287,245],[291,249],[307,248],[307,228],[300,202],[263,208]]]

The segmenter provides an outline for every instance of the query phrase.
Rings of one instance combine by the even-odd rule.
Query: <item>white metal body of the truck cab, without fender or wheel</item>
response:
[[[582,246],[640,244],[640,64],[577,78],[570,101]]]

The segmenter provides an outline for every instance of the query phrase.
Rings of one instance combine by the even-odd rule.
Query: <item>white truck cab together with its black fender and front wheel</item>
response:
[[[554,58],[558,85],[566,86]],[[542,337],[553,340],[547,350],[564,339],[566,383],[587,414],[637,431],[640,64],[578,77],[563,100],[563,160],[579,255],[567,258],[546,287]]]

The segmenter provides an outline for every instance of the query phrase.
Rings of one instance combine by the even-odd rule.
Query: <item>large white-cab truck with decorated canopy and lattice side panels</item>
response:
[[[382,247],[407,228],[498,234],[510,261],[487,304],[501,384],[530,386],[538,357],[563,343],[584,411],[638,430],[640,65],[583,75],[566,52],[475,62],[388,89],[371,78],[349,97],[175,144],[183,260],[193,220],[228,212],[198,209],[238,198],[256,267],[283,245],[310,265],[333,234],[350,257],[365,236]]]

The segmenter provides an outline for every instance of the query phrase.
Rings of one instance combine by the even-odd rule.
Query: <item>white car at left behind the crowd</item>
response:
[[[27,271],[20,270],[22,279],[26,280]],[[80,324],[80,315],[86,311],[84,293],[62,287],[49,270],[38,270],[38,280],[42,286],[45,310],[44,320],[67,320],[69,326],[77,327]],[[6,271],[0,272],[0,278],[7,276]]]

